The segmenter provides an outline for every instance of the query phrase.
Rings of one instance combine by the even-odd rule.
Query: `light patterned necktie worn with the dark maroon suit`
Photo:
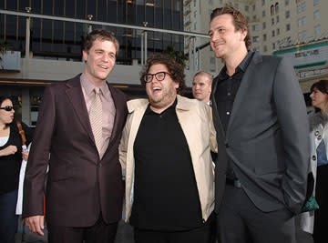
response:
[[[96,147],[98,153],[100,153],[102,141],[102,103],[100,98],[101,90],[99,87],[95,87],[95,93],[96,96],[92,101],[89,116],[92,132],[95,137]]]

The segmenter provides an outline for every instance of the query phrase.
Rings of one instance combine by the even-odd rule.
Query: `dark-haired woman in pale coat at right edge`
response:
[[[326,241],[328,220],[328,80],[314,83],[310,90],[315,109],[315,112],[310,114],[310,171],[314,177],[313,195],[319,209],[302,213],[300,226],[303,232],[313,234],[315,243],[321,243]],[[309,236],[307,238],[307,242],[313,242]]]

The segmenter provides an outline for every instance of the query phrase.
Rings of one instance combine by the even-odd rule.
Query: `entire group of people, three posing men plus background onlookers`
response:
[[[83,73],[46,87],[29,153],[1,97],[0,242],[15,242],[27,156],[23,218],[43,236],[46,217],[52,243],[114,242],[124,195],[136,243],[324,242],[328,80],[311,87],[308,117],[291,64],[250,51],[248,30],[237,9],[214,9],[220,74],[197,73],[190,99],[183,66],[153,55],[140,72],[147,98],[129,101],[107,82],[118,40],[92,31]],[[310,198],[319,209],[304,209]]]

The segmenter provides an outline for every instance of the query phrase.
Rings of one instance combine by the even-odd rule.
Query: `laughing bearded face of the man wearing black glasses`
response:
[[[159,72],[168,72],[165,65],[156,64],[150,66],[149,74],[156,74]],[[167,74],[162,81],[158,81],[155,76],[151,82],[146,84],[146,92],[149,96],[150,108],[157,113],[161,113],[169,106],[171,106],[177,97],[177,88],[179,83],[172,80],[171,76]]]

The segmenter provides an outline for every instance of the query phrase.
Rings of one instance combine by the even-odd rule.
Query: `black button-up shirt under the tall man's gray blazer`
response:
[[[229,124],[235,96],[241,86],[242,76],[246,72],[247,66],[249,66],[253,54],[253,52],[249,52],[247,56],[245,56],[241,64],[237,66],[235,73],[232,76],[227,74],[226,66],[223,67],[220,75],[218,76],[219,80],[214,96],[218,106],[220,121],[225,132],[227,131]],[[236,178],[231,167],[231,161],[228,161],[227,177],[233,179]]]

